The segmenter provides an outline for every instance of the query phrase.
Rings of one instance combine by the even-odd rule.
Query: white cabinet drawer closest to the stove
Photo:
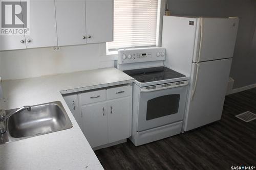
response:
[[[121,86],[121,87],[114,87],[106,89],[106,98],[107,99],[116,99],[122,98],[124,96],[131,95],[131,86]]]

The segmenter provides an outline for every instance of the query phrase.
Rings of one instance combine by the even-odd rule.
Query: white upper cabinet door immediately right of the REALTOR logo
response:
[[[29,16],[27,48],[57,46],[54,0],[31,0]]]

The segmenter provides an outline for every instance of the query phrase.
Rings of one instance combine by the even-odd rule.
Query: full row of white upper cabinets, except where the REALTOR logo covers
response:
[[[113,5],[113,0],[30,0],[28,34],[0,35],[0,51],[113,41]]]

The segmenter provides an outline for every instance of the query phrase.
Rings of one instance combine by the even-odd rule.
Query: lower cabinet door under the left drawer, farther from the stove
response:
[[[108,143],[106,102],[82,106],[83,133],[92,148]]]

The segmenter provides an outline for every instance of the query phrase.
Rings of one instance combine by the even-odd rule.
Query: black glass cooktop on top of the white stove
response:
[[[124,70],[123,72],[141,83],[186,77],[164,66]]]

